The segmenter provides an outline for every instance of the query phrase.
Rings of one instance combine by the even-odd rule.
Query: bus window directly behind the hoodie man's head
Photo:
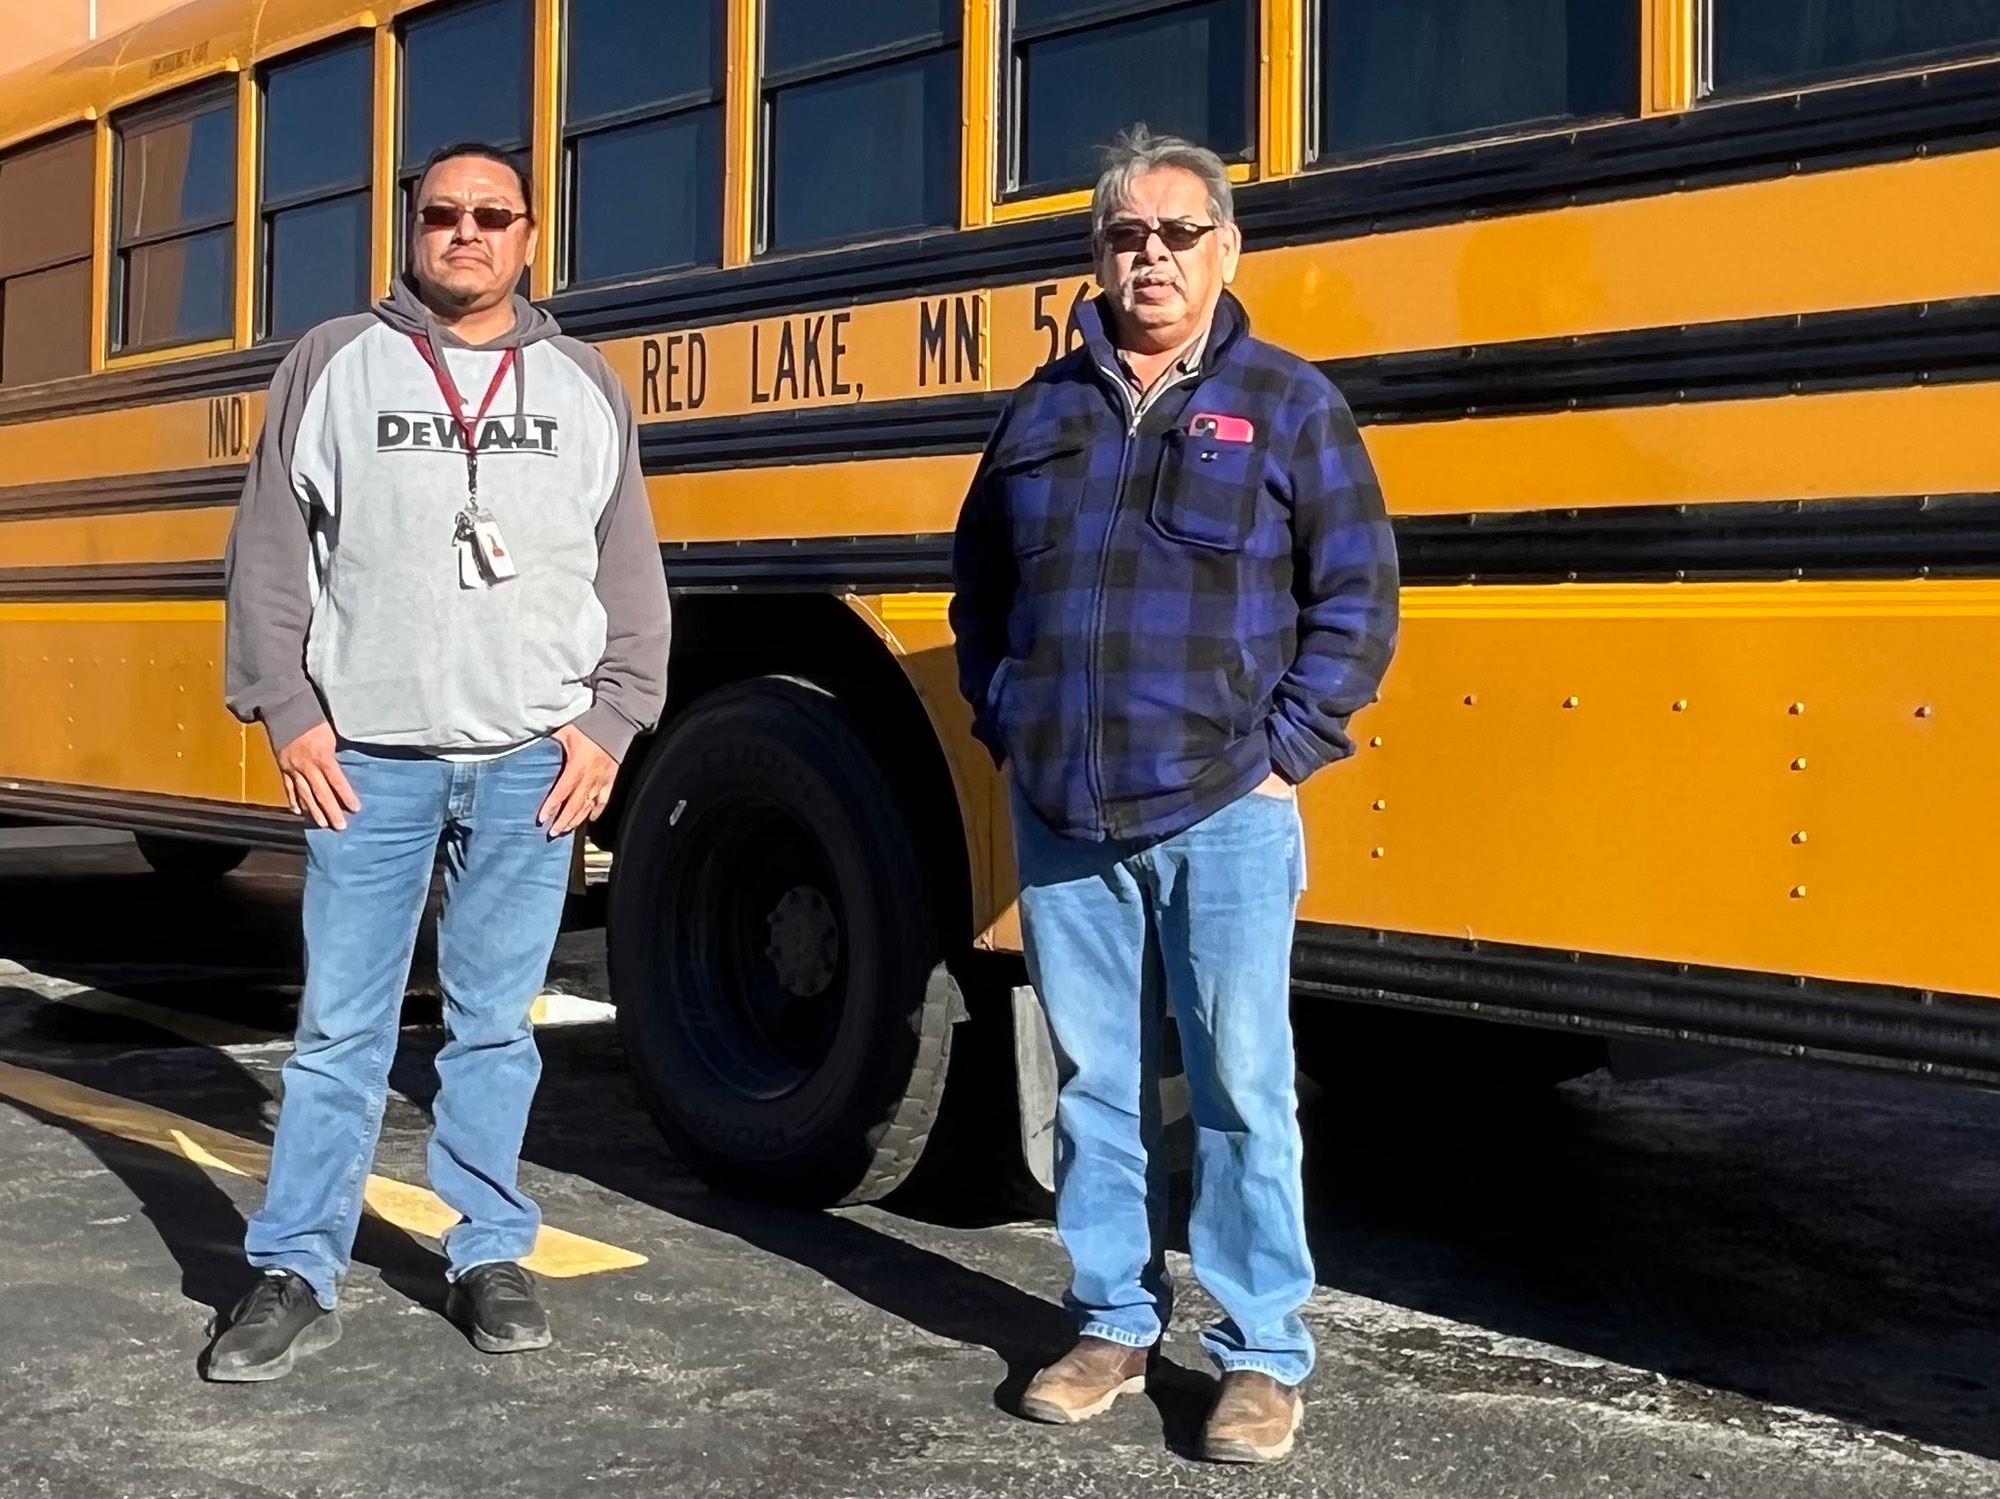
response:
[[[402,26],[402,188],[396,242],[408,252],[416,174],[438,146],[484,140],[526,154],[534,20],[528,0],[426,6]],[[544,208],[536,204],[536,214]]]

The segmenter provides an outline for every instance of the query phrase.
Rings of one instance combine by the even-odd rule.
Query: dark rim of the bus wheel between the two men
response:
[[[684,815],[680,877],[662,891],[666,1019],[746,1099],[804,1085],[846,1013],[848,929],[826,849],[776,803],[732,797]]]

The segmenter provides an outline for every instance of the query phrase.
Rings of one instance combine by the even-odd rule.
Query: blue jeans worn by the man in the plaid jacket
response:
[[[1162,997],[1194,1115],[1194,1273],[1222,1307],[1202,1345],[1284,1385],[1312,1373],[1312,1291],[1292,1061],[1292,925],[1306,883],[1296,797],[1250,793],[1166,839],[1052,833],[1014,793],[1028,977],[1056,1043],[1056,1231],[1086,1337],[1160,1339]]]

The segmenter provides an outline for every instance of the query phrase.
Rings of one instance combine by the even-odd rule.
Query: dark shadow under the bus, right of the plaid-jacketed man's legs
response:
[[[2000,1455],[2000,1099],[1740,1063],[1306,1119],[1324,1285]]]

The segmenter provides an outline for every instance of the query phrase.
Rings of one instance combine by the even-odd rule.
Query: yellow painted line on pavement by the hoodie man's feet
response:
[[[156,1109],[116,1093],[100,1093],[94,1087],[72,1083],[66,1077],[50,1077],[30,1067],[16,1067],[0,1061],[0,1097],[26,1103],[42,1113],[54,1113],[88,1125],[136,1145],[180,1155],[206,1171],[230,1171],[262,1181],[270,1173],[270,1149],[254,1141],[214,1129],[178,1113]],[[428,1187],[412,1187],[408,1181],[390,1181],[370,1175],[362,1193],[370,1213],[384,1223],[394,1223],[410,1233],[428,1239],[444,1237],[444,1231],[458,1221],[458,1213],[444,1205]],[[646,1255],[598,1243],[580,1233],[566,1233],[542,1225],[534,1241],[534,1253],[522,1261],[538,1275],[570,1279],[576,1275],[598,1275],[608,1269],[634,1269],[646,1263]]]

